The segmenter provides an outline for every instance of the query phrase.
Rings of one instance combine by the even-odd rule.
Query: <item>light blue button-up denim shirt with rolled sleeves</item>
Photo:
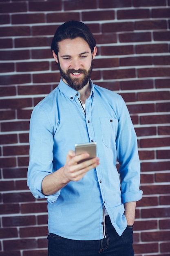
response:
[[[104,207],[120,236],[127,226],[124,203],[142,196],[137,138],[126,104],[120,95],[90,83],[86,115],[79,92],[61,79],[35,106],[30,121],[29,189],[35,198],[47,198],[49,233],[75,240],[105,237]],[[91,141],[97,142],[99,166],[44,196],[43,178],[64,166],[75,144]]]

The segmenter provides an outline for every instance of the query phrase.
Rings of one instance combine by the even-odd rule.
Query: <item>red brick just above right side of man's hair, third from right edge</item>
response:
[[[115,19],[115,11],[83,11],[82,12],[82,20],[114,20]],[[108,23],[107,23],[108,24]]]

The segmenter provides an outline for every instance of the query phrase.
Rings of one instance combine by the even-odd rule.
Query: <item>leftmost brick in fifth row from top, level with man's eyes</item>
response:
[[[11,60],[23,60],[29,59],[29,50],[9,50],[0,51],[0,60],[11,61]]]

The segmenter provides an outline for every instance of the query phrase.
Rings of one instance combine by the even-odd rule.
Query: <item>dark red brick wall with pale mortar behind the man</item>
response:
[[[29,119],[60,80],[49,47],[69,19],[94,33],[92,79],[122,95],[137,132],[135,255],[170,256],[170,0],[0,1],[0,256],[47,255],[46,202],[26,186]]]

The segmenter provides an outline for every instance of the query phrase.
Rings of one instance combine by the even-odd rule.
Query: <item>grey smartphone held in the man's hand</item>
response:
[[[86,160],[96,157],[96,146],[97,146],[96,142],[75,144],[75,155],[80,155],[83,153],[88,153],[90,155],[88,158],[83,159],[82,161],[79,161],[78,164],[80,162],[84,162]]]

